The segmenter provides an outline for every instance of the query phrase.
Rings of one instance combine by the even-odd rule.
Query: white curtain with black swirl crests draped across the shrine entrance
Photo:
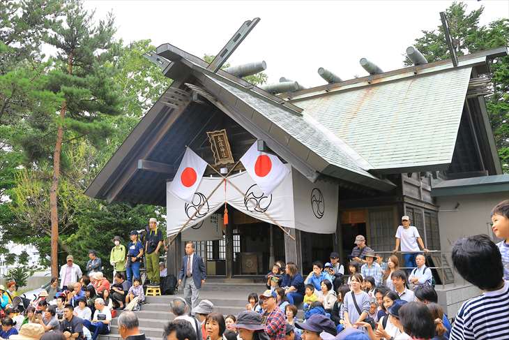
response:
[[[288,164],[285,166],[290,168]],[[226,193],[225,185],[221,184],[215,193],[206,200],[215,186],[222,181],[220,177],[204,177],[190,203],[176,198],[167,190],[167,235],[174,235],[178,232],[202,202],[205,202],[204,207],[188,223],[186,230],[202,223],[204,219],[208,219],[227,202],[238,211],[267,223],[273,222],[263,212],[266,212],[284,227],[320,234],[335,232],[337,184],[319,181],[312,183],[300,172],[291,168],[291,172],[284,177],[273,193],[264,195],[248,172],[231,175],[228,179],[241,192],[227,182]],[[167,183],[167,189],[170,184],[171,182]],[[197,241],[198,239],[193,240]]]

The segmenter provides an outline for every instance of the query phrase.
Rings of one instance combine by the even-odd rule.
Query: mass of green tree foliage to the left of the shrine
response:
[[[43,15],[46,10],[52,13]],[[63,126],[59,263],[73,253],[84,266],[93,248],[111,272],[113,236],[127,241],[130,230],[144,228],[149,217],[161,219],[165,210],[107,204],[84,191],[171,80],[142,57],[154,49],[150,40],[123,46],[112,38],[112,15],[97,21],[80,1],[2,1],[0,17],[0,242],[33,244],[41,264],[49,265],[52,156],[56,130]],[[33,27],[26,32],[33,40],[24,41],[22,25],[30,17]],[[4,40],[6,31],[13,43]],[[44,62],[42,41],[58,51]],[[64,104],[66,118],[60,120]],[[11,263],[26,263],[8,251],[0,247]]]

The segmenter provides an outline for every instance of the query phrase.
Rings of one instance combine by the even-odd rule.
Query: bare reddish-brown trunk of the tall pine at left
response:
[[[68,57],[68,72],[73,73],[73,54]],[[56,133],[56,143],[53,154],[53,177],[52,186],[50,189],[50,216],[52,223],[51,232],[51,263],[52,263],[52,276],[59,276],[59,209],[57,206],[58,198],[56,192],[59,189],[60,179],[60,154],[62,150],[63,140],[63,121],[66,117],[67,103],[63,101],[60,109],[59,129]]]

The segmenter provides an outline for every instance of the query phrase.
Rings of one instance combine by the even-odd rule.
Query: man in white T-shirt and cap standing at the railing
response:
[[[402,226],[397,227],[396,231],[396,246],[394,252],[400,248],[403,254],[404,267],[407,268],[407,272],[416,267],[416,256],[417,252],[420,251],[420,247],[425,251],[428,250],[424,246],[423,239],[420,238],[419,232],[416,227],[410,226],[409,216],[402,216]]]

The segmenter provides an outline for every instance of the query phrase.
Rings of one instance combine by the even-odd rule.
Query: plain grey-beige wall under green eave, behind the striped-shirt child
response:
[[[497,203],[507,200],[508,196],[508,193],[480,193],[437,197],[442,251],[451,251],[454,242],[462,236],[487,234],[494,237],[489,224],[492,221],[490,213]],[[459,207],[455,209],[457,203]]]

